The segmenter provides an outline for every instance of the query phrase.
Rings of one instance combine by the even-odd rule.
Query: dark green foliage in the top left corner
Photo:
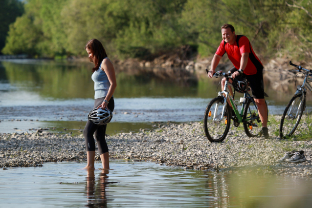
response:
[[[23,4],[19,0],[1,0],[0,6],[0,51],[4,47],[9,25],[23,13]]]

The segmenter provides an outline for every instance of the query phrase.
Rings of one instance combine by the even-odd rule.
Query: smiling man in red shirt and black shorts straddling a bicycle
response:
[[[267,105],[264,99],[264,83],[262,74],[263,65],[253,51],[247,37],[241,35],[237,36],[233,25],[223,24],[221,32],[223,41],[220,43],[219,48],[212,59],[208,77],[211,78],[213,76],[221,58],[225,53],[227,53],[229,60],[234,65],[234,67],[230,70],[233,73],[232,78],[234,79],[235,77],[244,74],[250,84],[254,101],[258,106],[258,113],[262,123],[263,134],[265,138],[268,138]],[[222,90],[224,88],[224,82],[225,80],[223,79]],[[230,91],[232,91],[231,88]]]

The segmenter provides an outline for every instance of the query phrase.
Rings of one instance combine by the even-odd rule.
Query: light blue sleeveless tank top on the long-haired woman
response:
[[[104,59],[110,60],[107,57]],[[94,91],[95,91],[94,99],[106,97],[107,92],[109,91],[109,88],[111,86],[111,83],[110,83],[106,73],[102,70],[101,65],[100,65],[98,70],[93,72],[91,78],[94,82]]]

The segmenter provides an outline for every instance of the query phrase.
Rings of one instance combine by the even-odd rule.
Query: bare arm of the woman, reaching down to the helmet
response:
[[[112,95],[114,94],[116,86],[117,86],[114,66],[112,65],[111,61],[108,59],[104,59],[101,66],[102,66],[101,67],[102,70],[106,73],[107,78],[109,79],[109,82],[111,83],[111,86],[110,86],[110,88],[107,92],[107,95],[105,97],[105,100],[110,101]],[[107,103],[105,103],[105,102],[103,102],[100,106],[98,106],[97,109],[99,109],[100,107],[102,109],[105,109],[105,108],[108,109]]]

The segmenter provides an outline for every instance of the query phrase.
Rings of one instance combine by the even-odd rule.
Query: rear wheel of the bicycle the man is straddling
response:
[[[258,126],[248,125],[247,123],[243,122],[244,130],[245,130],[247,137],[257,137],[262,134],[262,123],[261,123],[261,119],[259,117],[259,113],[257,110],[258,108],[256,104],[254,104],[252,101],[253,101],[253,98],[248,99],[245,105],[243,121],[246,120],[247,118],[257,118],[252,121],[254,121],[253,124],[257,124]],[[265,101],[265,103],[267,106],[267,101]],[[253,112],[251,113],[251,111]],[[268,109],[267,109],[267,117],[268,117]]]

